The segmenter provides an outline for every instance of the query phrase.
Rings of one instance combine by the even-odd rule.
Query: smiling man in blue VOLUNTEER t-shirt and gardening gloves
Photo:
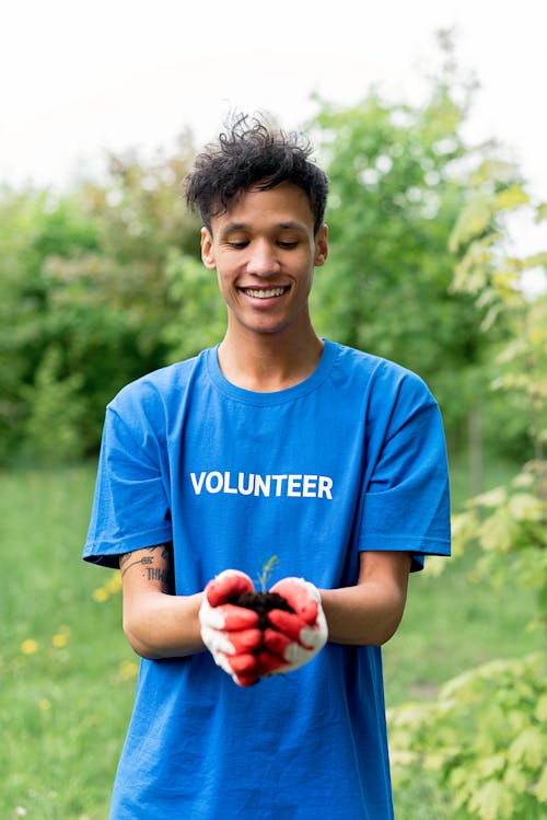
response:
[[[327,181],[299,138],[240,122],[186,193],[226,333],[108,406],[84,550],[142,657],[110,817],[388,820],[380,646],[450,551],[439,409],[315,333]],[[260,624],[235,601],[274,556],[292,612]]]

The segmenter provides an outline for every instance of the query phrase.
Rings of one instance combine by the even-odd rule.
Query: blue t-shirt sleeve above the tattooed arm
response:
[[[124,404],[124,403],[121,403]],[[118,555],[172,539],[161,447],[139,404],[106,411],[85,561],[117,566]]]

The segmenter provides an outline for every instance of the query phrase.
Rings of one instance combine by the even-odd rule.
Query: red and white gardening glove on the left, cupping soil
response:
[[[258,659],[253,652],[259,648],[263,633],[256,612],[229,601],[254,591],[245,573],[224,569],[205,588],[199,609],[203,644],[214,662],[240,686],[251,686],[259,678]]]

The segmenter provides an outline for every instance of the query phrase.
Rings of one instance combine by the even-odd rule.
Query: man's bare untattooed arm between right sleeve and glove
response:
[[[410,554],[361,552],[354,587],[322,589],[329,640],[381,646],[395,634],[405,610]]]

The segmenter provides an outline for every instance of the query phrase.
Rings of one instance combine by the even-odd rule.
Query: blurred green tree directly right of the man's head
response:
[[[352,108],[325,105],[318,115],[334,263],[316,277],[313,307],[326,335],[420,373],[454,435],[485,399],[490,339],[479,330],[484,308],[466,292],[450,293],[449,240],[469,174],[497,148],[465,145],[473,85],[458,79],[446,49],[424,105],[372,93]]]

